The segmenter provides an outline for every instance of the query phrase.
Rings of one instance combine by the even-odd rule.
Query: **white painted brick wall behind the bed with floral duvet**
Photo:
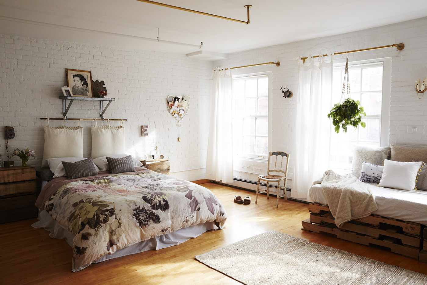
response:
[[[62,100],[58,97],[67,83],[66,68],[91,71],[93,80],[105,81],[108,97],[115,101],[104,117],[128,119],[128,153],[143,157],[157,144],[159,153],[170,159],[174,176],[205,178],[211,62],[173,53],[0,35],[0,127],[13,126],[16,132],[9,141],[9,152],[16,147],[35,149],[36,158],[30,159],[29,165],[40,168],[42,126],[46,125],[40,118],[62,117]],[[177,128],[168,113],[166,98],[183,94],[191,97],[190,109]],[[75,101],[68,117],[99,118],[99,103]],[[51,126],[61,124],[50,121]],[[82,121],[85,157],[91,155],[91,124]],[[67,121],[66,125],[77,126],[78,121]],[[149,125],[148,136],[140,135],[141,125]],[[3,139],[0,144],[0,154],[6,160]],[[13,160],[20,165],[19,158]]]

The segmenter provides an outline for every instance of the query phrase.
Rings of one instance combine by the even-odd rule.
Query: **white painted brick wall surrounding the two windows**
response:
[[[284,27],[286,28],[286,27]],[[262,65],[253,68],[234,69],[233,74],[272,72],[272,140],[271,150],[283,150],[291,153],[289,177],[293,176],[295,163],[295,111],[298,65],[296,58],[367,47],[377,47],[395,43],[404,43],[405,48],[396,48],[351,53],[349,62],[380,59],[390,57],[391,71],[391,103],[390,103],[390,135],[389,144],[427,144],[425,133],[408,132],[410,126],[427,124],[427,96],[417,98],[414,90],[415,79],[427,76],[427,18],[392,24],[358,32],[351,32],[331,37],[297,41],[290,44],[277,45],[263,49],[249,50],[230,55],[229,59],[213,63],[213,66],[242,66],[262,62],[280,61],[280,67]],[[345,55],[336,56],[334,62],[345,61]],[[287,85],[294,92],[294,97],[283,98],[280,86]],[[326,115],[326,114],[325,114]],[[410,128],[412,129],[412,128]],[[419,128],[418,128],[419,129]],[[270,151],[271,151],[270,150]],[[244,165],[249,172],[260,171],[259,165]],[[262,170],[261,173],[266,170]],[[251,178],[251,177],[249,177]],[[256,175],[251,180],[256,181]],[[292,186],[290,184],[289,186]]]

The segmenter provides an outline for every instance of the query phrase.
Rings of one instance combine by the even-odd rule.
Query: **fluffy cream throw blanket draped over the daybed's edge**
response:
[[[343,176],[327,170],[315,184],[322,185],[330,213],[338,227],[349,220],[369,216],[378,209],[372,192],[353,174]]]

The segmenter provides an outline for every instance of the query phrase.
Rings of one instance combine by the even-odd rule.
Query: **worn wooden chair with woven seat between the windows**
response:
[[[289,153],[284,153],[283,151],[275,151],[275,152],[269,153],[267,174],[258,176],[257,197],[255,199],[255,204],[257,203],[257,200],[258,200],[258,194],[267,193],[267,199],[269,199],[270,198],[269,192],[276,193],[277,195],[276,208],[279,207],[279,198],[284,197],[285,201],[287,201],[286,184],[287,184],[288,162],[289,162]],[[270,174],[270,172],[283,173],[283,175],[274,175],[274,174]],[[263,182],[260,183],[260,181],[263,181]],[[281,181],[284,182],[283,187],[280,187]],[[269,190],[269,186],[270,186],[269,183],[271,182],[277,183],[277,191]],[[260,185],[264,185],[264,184],[266,184],[266,190],[260,192]],[[279,196],[281,189],[283,189],[283,196]]]

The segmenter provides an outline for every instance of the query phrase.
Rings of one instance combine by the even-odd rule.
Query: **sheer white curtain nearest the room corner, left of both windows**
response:
[[[231,69],[216,69],[212,72],[212,77],[213,92],[206,179],[233,182]]]

